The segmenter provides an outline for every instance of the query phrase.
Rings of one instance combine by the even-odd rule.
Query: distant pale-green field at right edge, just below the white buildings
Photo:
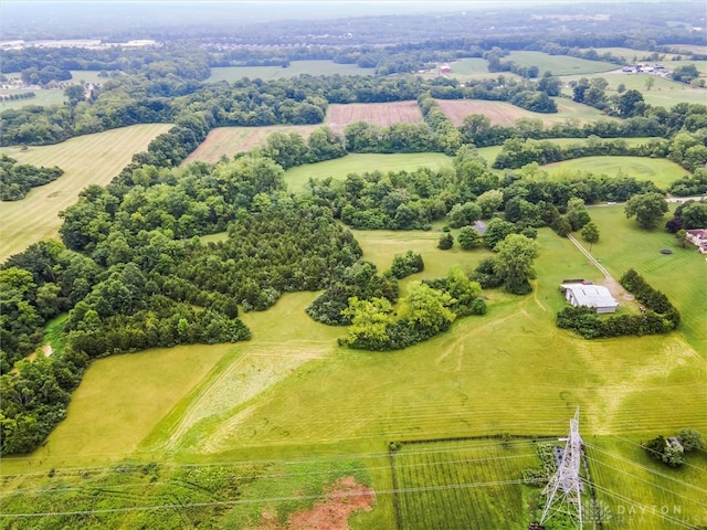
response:
[[[578,81],[580,77],[603,77],[609,82],[609,86],[606,87],[608,95],[618,94],[618,86],[623,84],[626,89],[635,89],[643,94],[643,99],[647,104],[664,108],[672,108],[678,103],[697,103],[705,105],[705,102],[707,102],[706,88],[699,88],[685,83],[677,83],[675,81],[650,74],[612,73],[609,75],[573,75],[562,77],[562,81],[568,83],[570,81]],[[651,86],[650,89],[648,80],[652,80],[653,83],[653,86]],[[567,86],[563,89],[563,93],[571,97],[572,89]]]

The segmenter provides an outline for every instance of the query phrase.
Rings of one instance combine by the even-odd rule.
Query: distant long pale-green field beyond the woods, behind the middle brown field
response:
[[[208,83],[228,81],[233,83],[243,77],[251,80],[277,80],[308,75],[373,75],[371,68],[361,68],[356,64],[338,64],[333,61],[293,61],[289,66],[226,66],[211,68]]]

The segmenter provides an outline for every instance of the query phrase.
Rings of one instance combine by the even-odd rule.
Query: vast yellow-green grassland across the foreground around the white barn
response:
[[[293,475],[299,475],[288,480],[300,479],[306,490],[309,474],[335,460],[334,467],[351,466],[358,469],[351,473],[370,476],[380,491],[376,509],[357,515],[352,528],[391,528],[393,486],[386,458],[390,442],[564,433],[578,405],[588,443],[604,444],[620,454],[626,460],[620,460],[622,466],[643,466],[639,447],[616,448],[612,437],[636,441],[683,427],[707,432],[705,259],[693,250],[678,248],[667,233],[640,230],[635,221],[625,219],[623,206],[592,208],[590,214],[601,233],[592,254],[615,277],[634,267],[665,292],[683,315],[677,332],[588,341],[559,330],[555,315],[564,300],[558,285],[569,277],[600,282],[602,276],[569,240],[541,229],[531,295],[485,292],[487,315],[463,318],[450,331],[403,351],[339,348],[336,338],[345,329],[313,322],[304,308],[316,293],[299,293],[283,296],[267,311],[244,314],[253,332],[251,341],[95,361],[67,418],[46,445],[31,455],[3,458],[3,489],[12,488],[12,474],[93,468],[120,459],[148,463],[157,458],[180,465],[271,463],[279,470],[265,474],[265,481],[254,483],[251,492],[243,488],[241,498],[257,504],[267,496],[277,510],[289,506],[286,499],[277,500],[276,486],[288,463],[298,463]],[[455,264],[473,268],[489,255],[457,246],[440,251],[439,234],[434,230],[355,232],[363,257],[381,271],[397,253],[420,252],[425,271],[410,280],[442,276]],[[674,254],[661,254],[664,247]],[[404,287],[405,283],[403,292]],[[604,462],[602,454],[598,458]],[[680,496],[694,499],[689,496],[694,488],[701,488],[699,495],[704,495],[699,470],[680,476],[679,487],[665,481],[648,486],[642,481],[643,471],[614,473],[610,466],[622,467],[609,458],[605,462],[605,475],[598,477],[610,498],[643,488],[655,489],[648,499],[663,501],[662,487],[669,490],[665,498],[671,501]],[[497,477],[506,473],[505,467],[490,469],[497,469]],[[468,473],[469,480],[483,480],[493,475],[490,469],[472,466],[449,473]],[[474,502],[483,502],[482,491],[473,494],[478,495]],[[517,502],[510,494],[494,495]],[[449,502],[444,496],[437,498],[440,504]],[[505,513],[505,502],[499,502],[504,508],[493,517]],[[115,505],[107,499],[102,506]],[[630,528],[666,528],[662,522]]]

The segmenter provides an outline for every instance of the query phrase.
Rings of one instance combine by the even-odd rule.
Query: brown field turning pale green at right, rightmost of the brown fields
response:
[[[481,99],[437,99],[442,112],[456,126],[462,125],[464,118],[472,114],[482,114],[493,125],[513,126],[520,118],[540,119],[545,125],[562,124],[568,119],[577,119],[580,123],[597,119],[609,119],[599,110],[587,105],[577,104],[569,99],[556,99],[558,112],[556,114],[532,113],[517,107],[507,102],[486,102]]]

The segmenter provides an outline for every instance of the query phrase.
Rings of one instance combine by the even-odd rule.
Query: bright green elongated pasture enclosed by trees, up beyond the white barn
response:
[[[632,140],[646,141],[644,138]],[[662,189],[667,189],[671,183],[689,174],[689,171],[671,160],[646,157],[584,157],[550,163],[542,169],[558,178],[571,177],[578,171],[609,177],[633,177],[636,180],[650,180]]]

